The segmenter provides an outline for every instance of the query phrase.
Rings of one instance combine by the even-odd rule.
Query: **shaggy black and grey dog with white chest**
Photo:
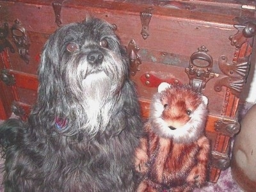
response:
[[[90,62],[93,51],[104,58]],[[0,128],[5,191],[133,191],[140,110],[113,26],[91,18],[58,29],[38,80],[28,122]]]

